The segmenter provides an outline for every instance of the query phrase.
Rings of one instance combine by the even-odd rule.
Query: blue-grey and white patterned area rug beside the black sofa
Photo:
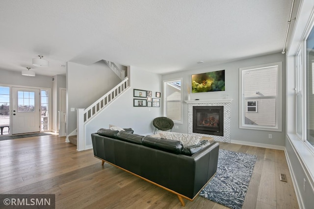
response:
[[[231,209],[241,209],[257,156],[219,149],[217,173],[200,196]]]

